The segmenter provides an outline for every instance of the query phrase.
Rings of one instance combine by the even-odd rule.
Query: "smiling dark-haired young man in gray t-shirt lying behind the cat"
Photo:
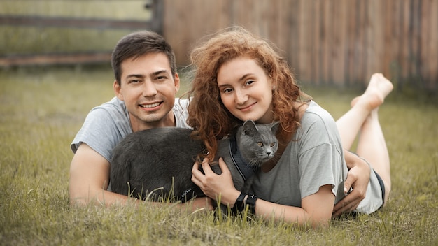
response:
[[[175,55],[162,36],[140,31],[123,37],[115,46],[111,65],[115,97],[90,111],[71,143],[71,204],[125,203],[129,198],[111,192],[109,184],[113,147],[134,131],[188,127],[188,101],[175,99],[180,86]],[[212,209],[206,198],[191,204]]]

